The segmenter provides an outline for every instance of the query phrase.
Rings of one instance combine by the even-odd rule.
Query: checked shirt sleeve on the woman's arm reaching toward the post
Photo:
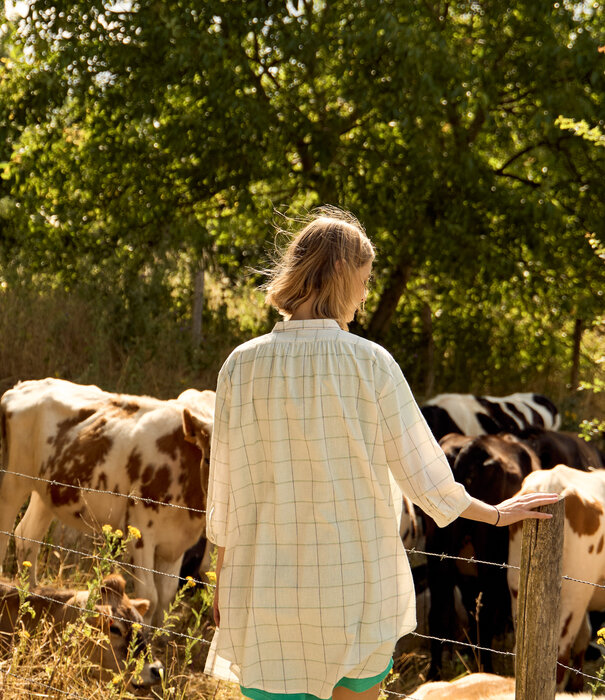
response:
[[[454,480],[447,458],[394,360],[388,375],[378,406],[389,468],[403,493],[444,527],[466,510],[471,497]]]

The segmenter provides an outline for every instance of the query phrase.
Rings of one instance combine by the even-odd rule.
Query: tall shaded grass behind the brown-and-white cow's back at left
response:
[[[214,388],[229,352],[266,324],[252,288],[212,279],[199,346],[187,307],[123,308],[89,285],[67,292],[13,283],[0,288],[0,394],[19,380],[48,376],[158,398]]]

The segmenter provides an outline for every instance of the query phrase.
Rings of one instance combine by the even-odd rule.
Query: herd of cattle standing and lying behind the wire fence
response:
[[[558,430],[558,411],[547,398],[441,394],[422,412],[456,479],[471,495],[492,504],[521,488],[565,496],[563,573],[581,574],[595,584],[605,581],[605,460],[590,443]],[[111,653],[99,652],[102,667],[122,663],[135,622],[161,626],[177,590],[183,555],[195,546],[203,549],[213,413],[212,391],[189,389],[161,401],[52,378],[20,382],[0,399],[0,566],[28,497],[14,538],[19,564],[32,562],[32,584],[39,543],[54,518],[87,533],[109,524],[123,531],[131,526],[141,534],[129,543],[136,598],[126,595],[120,577],[110,577],[102,587],[99,619],[105,610],[113,620],[108,629]],[[440,529],[407,499],[403,512],[406,546],[418,545],[422,536],[427,552],[472,555],[498,564],[519,561],[519,527],[459,519]],[[518,592],[514,569],[507,577],[501,567],[462,568],[454,559],[428,556],[426,576],[432,637],[456,639],[459,634],[458,591],[469,615],[481,601],[477,634],[482,646],[490,647],[513,619]],[[587,614],[605,610],[604,590],[563,582],[559,660],[564,664],[581,668],[590,641]],[[31,593],[35,605],[58,624],[85,606],[83,596],[49,587]],[[17,604],[14,585],[0,584],[0,632],[13,630]],[[144,632],[139,635],[143,650],[148,642]],[[435,641],[433,678],[440,673],[442,650]],[[484,666],[491,670],[489,657]],[[140,682],[157,682],[160,672],[159,662],[146,663]],[[559,686],[576,688],[577,678],[581,676],[561,673]]]

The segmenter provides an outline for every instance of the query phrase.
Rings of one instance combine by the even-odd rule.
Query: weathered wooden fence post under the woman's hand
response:
[[[537,510],[549,520],[525,520],[517,607],[516,700],[554,700],[561,607],[563,499]]]

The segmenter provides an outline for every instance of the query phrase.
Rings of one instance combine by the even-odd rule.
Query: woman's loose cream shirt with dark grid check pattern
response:
[[[383,671],[414,629],[397,512],[470,504],[395,360],[336,321],[288,321],[218,379],[207,534],[226,547],[206,671],[330,697]]]

